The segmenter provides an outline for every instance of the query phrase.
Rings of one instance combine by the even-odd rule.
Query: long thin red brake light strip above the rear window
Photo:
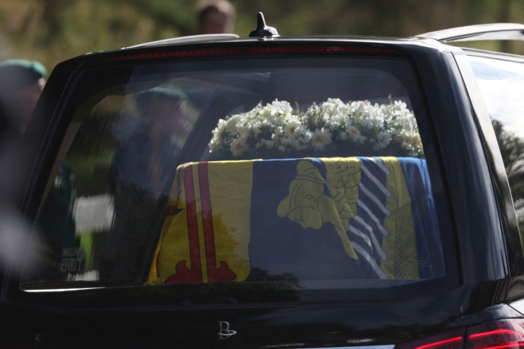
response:
[[[311,53],[311,52],[371,52],[384,53],[395,52],[384,47],[363,47],[363,46],[265,46],[252,48],[209,48],[196,50],[178,50],[169,52],[128,54],[107,59],[106,61],[122,61],[150,58],[174,58],[174,57],[194,57],[206,55],[230,55],[230,54],[265,54],[265,53]]]

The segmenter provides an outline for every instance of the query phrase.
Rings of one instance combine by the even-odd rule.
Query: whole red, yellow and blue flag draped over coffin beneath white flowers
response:
[[[257,281],[262,274],[298,280],[443,275],[425,161],[337,157],[179,166],[146,284]]]

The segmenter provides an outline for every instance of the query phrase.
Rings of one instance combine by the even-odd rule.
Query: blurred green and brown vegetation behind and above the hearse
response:
[[[233,0],[234,33],[247,36],[264,12],[280,35],[407,37],[493,22],[524,22],[524,0]],[[48,70],[77,55],[193,35],[194,0],[0,0],[0,61]],[[523,42],[468,47],[524,54]]]

